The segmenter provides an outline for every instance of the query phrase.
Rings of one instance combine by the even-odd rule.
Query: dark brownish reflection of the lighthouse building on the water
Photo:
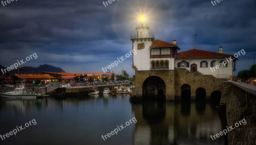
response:
[[[218,112],[204,102],[132,103],[138,122],[133,144],[224,144],[224,137],[212,142],[210,135],[221,130]],[[141,117],[142,116],[142,117]]]

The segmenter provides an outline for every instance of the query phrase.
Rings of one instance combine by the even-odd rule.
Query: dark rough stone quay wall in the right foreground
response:
[[[246,124],[228,132],[228,144],[256,144],[256,96],[246,92],[235,83],[229,83],[227,100],[227,126],[235,127],[242,119]]]

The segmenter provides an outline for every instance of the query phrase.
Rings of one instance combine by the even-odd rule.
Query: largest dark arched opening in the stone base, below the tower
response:
[[[166,86],[160,77],[148,77],[142,87],[144,100],[165,100]]]

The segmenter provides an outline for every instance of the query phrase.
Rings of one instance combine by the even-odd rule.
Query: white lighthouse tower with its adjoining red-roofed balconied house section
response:
[[[155,40],[155,35],[149,34],[149,24],[145,17],[140,16],[140,23],[136,24],[136,33],[131,35],[133,55],[132,68],[135,71],[174,70],[174,57],[177,50],[176,40],[172,43]]]

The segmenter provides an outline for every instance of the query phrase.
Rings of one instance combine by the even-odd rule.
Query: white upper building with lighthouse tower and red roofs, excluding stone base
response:
[[[137,52],[132,56],[132,68],[135,71],[174,70],[174,67],[177,67],[217,78],[230,78],[236,70],[236,59],[229,62],[228,58],[234,59],[234,56],[222,53],[222,47],[219,53],[198,49],[177,53],[180,48],[176,45],[176,40],[172,43],[155,40],[155,35],[149,34],[149,28],[142,13],[139,24],[136,24],[136,34],[130,36],[132,49]],[[216,68],[224,60],[228,60],[228,63]]]

